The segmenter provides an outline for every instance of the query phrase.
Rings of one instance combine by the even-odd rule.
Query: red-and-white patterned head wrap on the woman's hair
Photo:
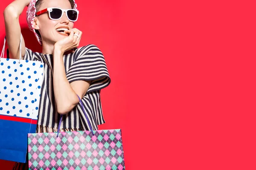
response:
[[[33,26],[33,21],[35,19],[35,13],[36,13],[36,8],[35,8],[35,3],[37,2],[38,0],[31,0],[31,2],[29,3],[29,7],[26,11],[26,20],[27,20],[27,23],[28,23],[28,26],[29,26],[29,29],[31,31],[34,32],[35,34],[35,37],[36,39],[38,40],[39,44],[42,45],[42,38],[41,38],[41,35],[40,34],[37,34],[35,32],[35,28]],[[74,1],[74,9],[77,9],[77,5],[76,5],[76,2],[75,0]]]

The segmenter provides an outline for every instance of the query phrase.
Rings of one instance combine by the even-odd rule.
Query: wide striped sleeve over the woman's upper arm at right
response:
[[[105,58],[96,45],[76,50],[74,62],[66,76],[70,83],[77,80],[91,81],[87,93],[105,88],[111,82]]]

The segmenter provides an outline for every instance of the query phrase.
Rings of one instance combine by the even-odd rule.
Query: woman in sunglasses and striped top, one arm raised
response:
[[[6,39],[10,58],[19,58],[19,15],[29,5],[27,22],[42,45],[42,53],[33,52],[21,42],[21,55],[26,60],[44,63],[38,125],[36,132],[55,132],[60,114],[61,131],[89,130],[79,103],[81,98],[93,126],[105,123],[100,90],[110,84],[105,59],[95,45],[76,48],[82,32],[73,28],[79,12],[73,0],[15,0],[4,11]],[[58,114],[59,113],[59,114]],[[16,169],[27,164],[16,163]]]

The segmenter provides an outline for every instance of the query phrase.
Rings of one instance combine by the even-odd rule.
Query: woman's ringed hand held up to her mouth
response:
[[[61,53],[78,47],[82,35],[82,32],[77,28],[73,28],[64,32],[69,34],[69,36],[56,42],[54,45],[54,50],[59,50]]]

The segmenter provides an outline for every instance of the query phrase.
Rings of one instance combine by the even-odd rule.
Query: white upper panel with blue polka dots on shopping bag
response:
[[[43,72],[38,61],[1,59],[0,114],[37,119]]]

